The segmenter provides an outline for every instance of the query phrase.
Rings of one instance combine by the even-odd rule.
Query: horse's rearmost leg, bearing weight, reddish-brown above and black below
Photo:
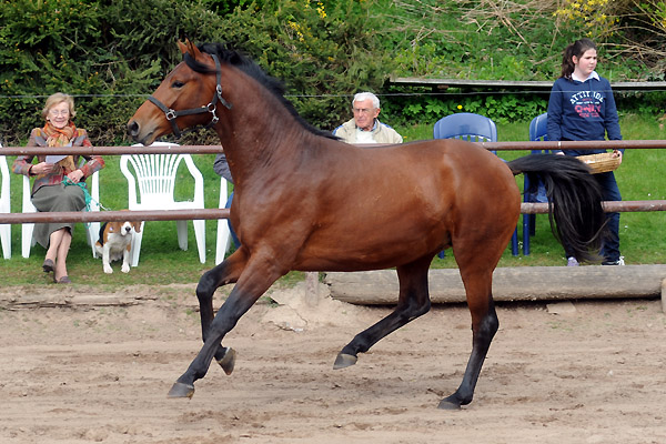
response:
[[[474,389],[481,373],[481,367],[486,357],[491,342],[500,327],[497,314],[492,294],[493,270],[498,261],[488,258],[492,255],[494,248],[492,244],[484,245],[485,251],[480,249],[461,249],[463,252],[456,255],[456,261],[460,266],[461,278],[465,284],[467,294],[467,305],[472,314],[472,354],[465,369],[463,382],[451,396],[440,402],[440,408],[455,410],[461,405],[466,405],[472,402]],[[455,246],[455,242],[454,242]],[[463,256],[458,259],[458,256]]]

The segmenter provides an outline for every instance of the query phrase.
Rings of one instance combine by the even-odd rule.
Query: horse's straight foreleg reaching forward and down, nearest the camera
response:
[[[205,331],[203,347],[169,391],[169,397],[192,397],[194,382],[205,376],[224,335],[239,319],[284,272],[276,270],[269,261],[249,261],[242,275],[226,301],[222,304],[209,329]]]

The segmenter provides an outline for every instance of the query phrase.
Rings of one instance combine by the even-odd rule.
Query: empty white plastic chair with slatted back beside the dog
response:
[[[174,143],[154,142],[151,147],[174,147]],[[142,147],[134,144],[133,147]],[[173,191],[175,184],[175,173],[181,161],[194,178],[194,194],[192,201],[175,201]],[[128,168],[132,164],[134,173]],[[128,180],[128,208],[130,210],[189,210],[203,209],[203,175],[194,164],[190,154],[123,154],[120,158],[120,171]],[[137,186],[139,196],[137,199]],[[205,263],[205,221],[193,220],[194,236],[199,248],[199,261]],[[188,250],[188,221],[175,221],[178,228],[178,243],[181,250]],[[143,238],[143,226],[141,231],[134,233],[132,241],[132,266],[139,264],[141,253],[141,240]]]

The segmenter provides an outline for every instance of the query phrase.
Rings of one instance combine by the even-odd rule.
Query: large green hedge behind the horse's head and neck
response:
[[[181,60],[176,38],[230,42],[270,74],[315,125],[349,118],[350,95],[377,90],[386,58],[367,26],[370,2],[307,0],[2,1],[0,132],[20,144],[41,124],[46,97],[77,97],[78,121],[98,145],[127,143],[134,110]],[[232,6],[235,9],[230,12]],[[159,11],[159,13],[155,13]],[[27,12],[27,13],[26,13]],[[205,137],[205,135],[204,135]]]

